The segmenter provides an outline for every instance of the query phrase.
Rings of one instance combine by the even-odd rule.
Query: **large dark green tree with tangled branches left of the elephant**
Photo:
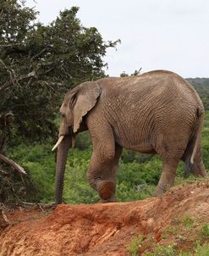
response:
[[[35,142],[54,136],[64,92],[104,76],[102,57],[118,41],[104,42],[96,28],[81,25],[78,10],[65,9],[46,26],[25,3],[1,1],[0,153],[11,138]],[[10,159],[0,159],[18,170]]]

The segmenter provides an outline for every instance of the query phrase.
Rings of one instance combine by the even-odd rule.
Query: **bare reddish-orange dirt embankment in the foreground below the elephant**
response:
[[[5,214],[10,225],[0,231],[0,256],[123,256],[130,255],[127,248],[135,237],[143,237],[139,255],[157,243],[175,242],[187,249],[198,239],[202,223],[209,222],[209,181],[176,186],[162,198]],[[193,221],[190,229],[182,225],[185,214]],[[167,237],[168,227],[176,233]]]

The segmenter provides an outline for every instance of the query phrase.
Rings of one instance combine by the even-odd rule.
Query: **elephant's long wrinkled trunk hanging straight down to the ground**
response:
[[[55,200],[56,204],[62,203],[63,198],[63,176],[65,165],[68,157],[69,146],[71,143],[70,136],[64,136],[63,141],[58,146],[58,157],[55,180]]]

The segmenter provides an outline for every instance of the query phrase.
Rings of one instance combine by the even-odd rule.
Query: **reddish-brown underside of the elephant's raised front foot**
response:
[[[97,186],[97,191],[102,200],[108,200],[113,195],[115,186],[111,181],[100,181]]]

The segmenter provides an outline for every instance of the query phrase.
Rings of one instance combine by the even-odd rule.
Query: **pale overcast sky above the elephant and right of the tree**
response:
[[[36,2],[35,2],[36,1]],[[188,77],[209,77],[208,0],[26,0],[47,25],[60,10],[80,7],[77,17],[94,26],[104,41],[121,40],[104,59],[106,74],[171,70]]]

